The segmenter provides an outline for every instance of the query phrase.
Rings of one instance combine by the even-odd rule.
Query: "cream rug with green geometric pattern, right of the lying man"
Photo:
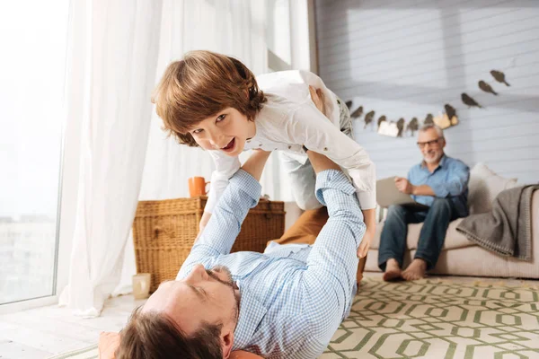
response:
[[[539,358],[539,288],[367,277],[321,358]]]

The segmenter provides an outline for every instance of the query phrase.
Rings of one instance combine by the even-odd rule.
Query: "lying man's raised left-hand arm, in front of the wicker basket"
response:
[[[230,252],[245,216],[261,197],[259,180],[268,157],[270,152],[253,151],[241,170],[230,179],[191,254],[215,256]]]

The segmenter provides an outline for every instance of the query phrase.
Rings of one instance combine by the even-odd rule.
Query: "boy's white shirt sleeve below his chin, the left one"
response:
[[[212,213],[219,198],[225,191],[226,186],[228,186],[228,180],[234,176],[234,173],[237,172],[242,165],[237,156],[227,156],[220,151],[208,151],[208,153],[216,163],[216,170],[211,174],[208,202],[206,203],[204,212]]]

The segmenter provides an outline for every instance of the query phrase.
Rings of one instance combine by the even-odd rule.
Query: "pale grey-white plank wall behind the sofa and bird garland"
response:
[[[461,123],[446,129],[446,153],[486,162],[520,182],[539,181],[539,1],[317,0],[320,74],[352,110],[363,105],[398,120],[437,115],[444,104]],[[494,81],[502,70],[510,87]],[[482,92],[478,81],[499,96]],[[466,92],[485,109],[468,109]],[[374,122],[376,122],[376,119]],[[355,123],[378,178],[420,162],[416,138],[385,137]]]

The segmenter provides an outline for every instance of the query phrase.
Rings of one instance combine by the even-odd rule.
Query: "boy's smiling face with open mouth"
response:
[[[237,156],[242,153],[245,141],[256,134],[256,127],[237,109],[227,108],[203,119],[189,132],[205,150]]]

